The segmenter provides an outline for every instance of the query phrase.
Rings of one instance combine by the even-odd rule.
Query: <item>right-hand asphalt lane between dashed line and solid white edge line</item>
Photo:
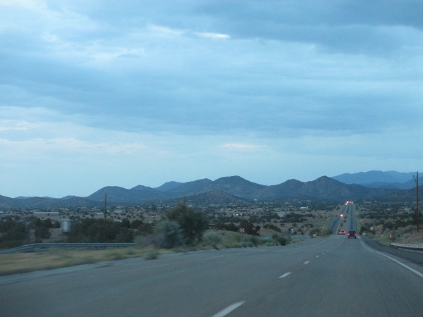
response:
[[[343,236],[340,247],[311,259],[229,316],[422,316],[423,278]],[[419,267],[422,272],[422,267]],[[259,315],[260,316],[260,315]]]

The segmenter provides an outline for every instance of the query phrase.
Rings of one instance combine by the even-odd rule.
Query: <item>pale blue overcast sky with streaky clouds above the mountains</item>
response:
[[[0,195],[422,170],[423,1],[0,0]]]

